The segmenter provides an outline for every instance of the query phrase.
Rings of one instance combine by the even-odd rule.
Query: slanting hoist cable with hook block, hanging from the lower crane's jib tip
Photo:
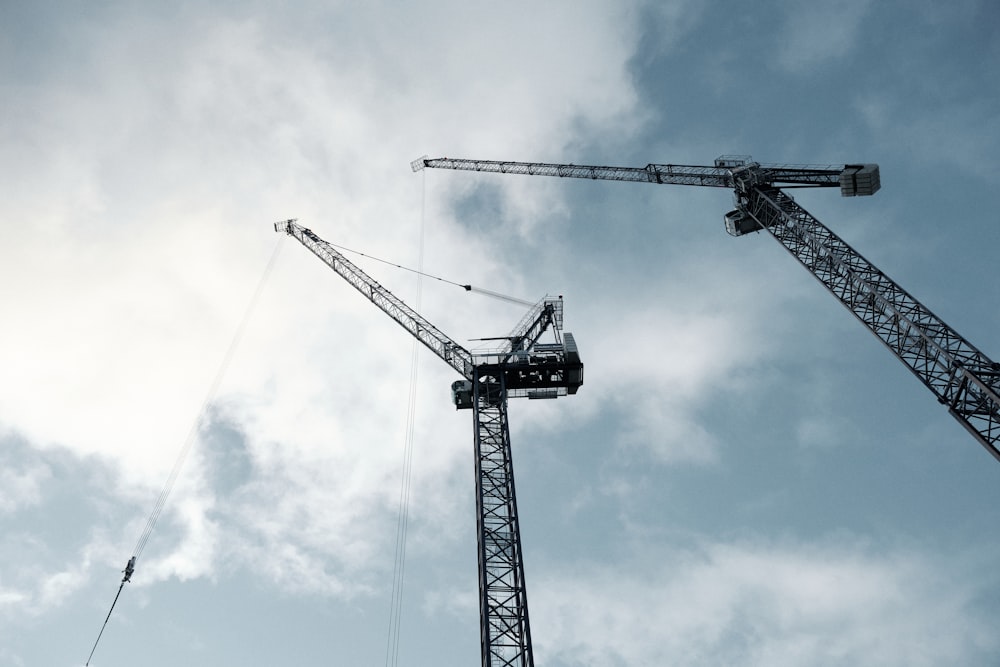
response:
[[[240,321],[239,326],[236,328],[236,333],[233,335],[233,339],[229,344],[229,349],[226,351],[225,357],[223,357],[222,364],[219,366],[219,370],[215,375],[215,379],[212,382],[211,387],[205,396],[205,401],[202,403],[201,408],[198,410],[195,416],[194,423],[191,426],[191,430],[188,432],[187,439],[184,441],[184,446],[181,447],[180,452],[177,455],[176,461],[174,461],[174,467],[170,471],[170,475],[167,477],[166,483],[160,490],[160,495],[157,496],[156,502],[153,504],[153,510],[149,514],[149,518],[146,519],[146,525],[142,529],[142,533],[139,535],[139,539],[135,543],[135,547],[132,549],[132,557],[129,559],[128,564],[125,566],[125,576],[122,577],[121,585],[118,586],[118,593],[115,595],[114,602],[111,603],[111,609],[108,610],[108,615],[104,619],[104,624],[101,626],[101,631],[97,633],[97,640],[94,642],[94,647],[90,650],[90,656],[87,658],[87,665],[90,665],[90,660],[94,657],[94,651],[97,650],[97,644],[101,641],[101,637],[104,635],[104,629],[108,625],[108,620],[111,618],[111,613],[115,610],[115,605],[118,604],[118,598],[122,594],[122,589],[125,588],[127,584],[132,579],[132,574],[135,572],[136,561],[139,560],[139,556],[142,555],[143,550],[146,548],[146,543],[149,541],[149,536],[153,533],[153,528],[156,526],[157,520],[160,518],[160,513],[163,511],[164,506],[167,503],[167,498],[170,497],[170,492],[174,488],[174,484],[177,482],[177,477],[180,475],[181,468],[184,467],[184,461],[187,459],[188,454],[191,452],[191,447],[194,445],[196,436],[198,435],[198,430],[201,425],[202,416],[208,410],[208,406],[215,400],[215,395],[219,390],[219,385],[222,383],[222,378],[225,376],[226,371],[229,368],[229,364],[233,359],[233,354],[236,348],[239,346],[240,340],[243,338],[243,333],[246,330],[247,324],[250,322],[250,317],[253,314],[254,309],[257,306],[257,302],[260,300],[260,295],[264,291],[264,285],[267,283],[268,277],[271,275],[271,270],[274,268],[275,262],[278,259],[278,254],[281,251],[282,245],[284,245],[285,235],[282,235],[274,248],[274,252],[271,253],[271,259],[268,260],[267,266],[264,267],[264,273],[257,283],[257,288],[254,290],[253,297],[250,299],[250,303],[247,305],[246,311],[243,313],[243,319]]]

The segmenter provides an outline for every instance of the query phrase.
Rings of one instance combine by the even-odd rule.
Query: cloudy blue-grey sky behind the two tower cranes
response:
[[[187,442],[92,665],[479,660],[454,371],[288,218],[563,295],[585,384],[510,405],[537,664],[1000,663],[1000,464],[730,193],[410,170],[876,162],[794,196],[997,359],[998,70],[987,0],[4,4],[0,667],[86,662]],[[470,347],[524,314],[356,261]]]

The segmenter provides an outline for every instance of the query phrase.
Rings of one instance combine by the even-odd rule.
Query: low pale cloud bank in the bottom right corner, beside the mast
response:
[[[976,664],[998,645],[977,609],[978,559],[881,553],[844,536],[642,551],[634,562],[564,569],[534,585],[540,657],[909,666]]]

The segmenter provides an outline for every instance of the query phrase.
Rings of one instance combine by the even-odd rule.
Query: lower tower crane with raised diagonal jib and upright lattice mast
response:
[[[533,667],[507,399],[557,398],[583,384],[576,341],[562,332],[562,297],[542,299],[497,339],[504,341],[499,348],[473,354],[296,220],[274,230],[295,237],[462,377],[451,392],[456,409],[472,410],[474,424],[482,665]],[[546,331],[554,342],[540,342]]]

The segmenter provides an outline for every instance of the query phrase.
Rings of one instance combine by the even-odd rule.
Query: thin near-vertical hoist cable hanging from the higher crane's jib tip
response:
[[[420,240],[418,243],[417,265],[424,266],[424,230],[426,227],[426,193],[427,179],[424,178],[424,188],[420,205]],[[381,260],[380,260],[381,261]],[[423,296],[424,274],[422,270],[412,270],[417,274],[417,295],[415,306],[420,311]],[[432,276],[429,276],[432,277]],[[440,280],[440,279],[439,279]],[[445,281],[450,282],[450,281]],[[406,571],[406,534],[410,517],[410,479],[413,472],[413,434],[417,412],[417,368],[419,357],[418,340],[413,341],[410,355],[410,390],[406,409],[406,434],[403,443],[403,472],[399,488],[399,510],[396,517],[396,547],[392,565],[392,596],[389,602],[389,630],[386,637],[386,667],[396,667],[399,664],[399,638],[401,616],[403,609],[403,578]]]

